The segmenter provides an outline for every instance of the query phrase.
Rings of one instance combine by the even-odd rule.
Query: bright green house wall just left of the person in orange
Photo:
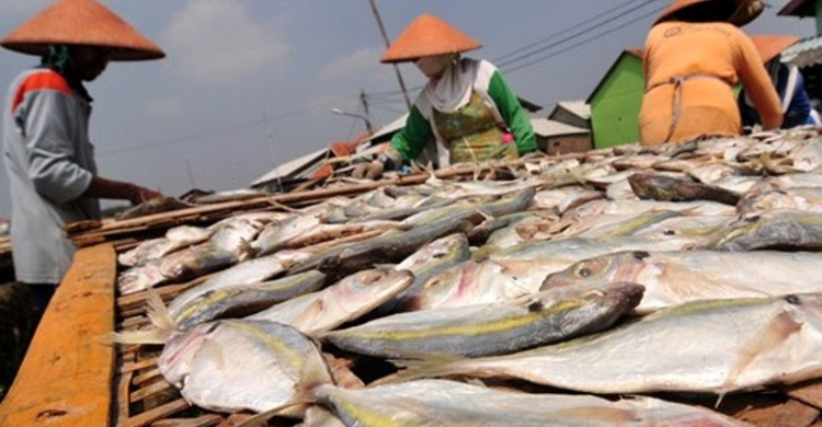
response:
[[[594,148],[639,141],[639,108],[644,77],[642,60],[624,53],[591,96]]]

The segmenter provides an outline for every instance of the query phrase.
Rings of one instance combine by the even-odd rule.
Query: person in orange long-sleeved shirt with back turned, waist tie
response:
[[[741,83],[765,129],[779,128],[779,96],[753,42],[739,28],[760,0],[676,0],[646,41],[640,142],[742,135],[733,88]]]

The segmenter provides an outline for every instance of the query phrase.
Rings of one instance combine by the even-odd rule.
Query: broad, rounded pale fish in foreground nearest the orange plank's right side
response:
[[[275,322],[224,320],[170,337],[158,360],[186,401],[220,412],[264,412],[331,384],[313,342]]]

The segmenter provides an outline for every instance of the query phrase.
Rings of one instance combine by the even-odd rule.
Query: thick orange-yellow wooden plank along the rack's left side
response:
[[[110,425],[114,257],[111,244],[75,254],[0,404],[1,426]]]

